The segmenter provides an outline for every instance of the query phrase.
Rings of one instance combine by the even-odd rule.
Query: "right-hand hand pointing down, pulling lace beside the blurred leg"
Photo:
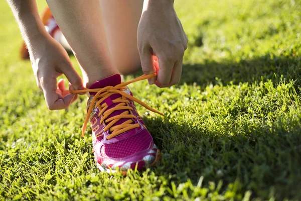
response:
[[[179,83],[188,39],[172,0],[144,1],[137,40],[143,73],[158,71],[157,77],[148,79],[149,84],[168,87]]]

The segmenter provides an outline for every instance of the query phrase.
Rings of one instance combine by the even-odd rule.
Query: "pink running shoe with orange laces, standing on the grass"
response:
[[[138,115],[134,102],[163,114],[133,97],[126,86],[154,76],[156,73],[121,83],[120,75],[114,74],[95,82],[90,89],[70,91],[90,92],[83,134],[90,120],[93,153],[100,171],[115,172],[116,167],[119,167],[125,174],[127,169],[135,169],[137,166],[141,170],[145,164],[152,165],[160,158],[160,151]]]

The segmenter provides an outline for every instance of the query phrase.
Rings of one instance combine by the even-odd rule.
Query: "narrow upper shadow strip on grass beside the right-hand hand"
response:
[[[300,58],[275,57],[270,54],[251,60],[241,60],[237,63],[223,60],[222,62],[204,61],[202,64],[184,64],[180,84],[199,85],[221,82],[254,82],[272,79],[278,81],[283,75],[284,79],[294,79],[299,84],[301,75]],[[218,79],[216,79],[218,78]]]

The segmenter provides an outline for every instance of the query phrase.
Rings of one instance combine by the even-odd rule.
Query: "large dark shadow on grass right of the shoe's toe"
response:
[[[162,118],[143,121],[162,151],[162,161],[153,169],[158,176],[176,184],[191,179],[194,185],[204,176],[202,186],[207,188],[210,182],[217,185],[223,181],[220,193],[229,183],[236,183],[242,196],[251,190],[252,197],[301,197],[301,128],[293,120],[285,120],[283,125],[280,118],[271,127],[246,124],[237,135],[199,130]],[[287,132],[287,126],[291,132]]]

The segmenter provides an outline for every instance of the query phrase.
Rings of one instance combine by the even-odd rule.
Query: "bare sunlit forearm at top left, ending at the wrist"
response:
[[[35,41],[46,36],[36,0],[7,0],[7,2],[13,11],[28,48],[33,48]]]

